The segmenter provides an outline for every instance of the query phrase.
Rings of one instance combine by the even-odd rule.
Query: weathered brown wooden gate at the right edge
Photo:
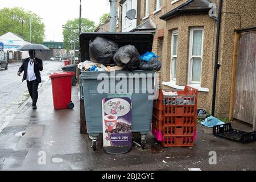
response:
[[[253,125],[256,115],[256,34],[242,35],[238,42],[233,118]]]

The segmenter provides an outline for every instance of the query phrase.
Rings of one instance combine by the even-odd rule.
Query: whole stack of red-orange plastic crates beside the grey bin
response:
[[[185,86],[177,96],[164,96],[159,89],[158,100],[154,100],[152,134],[164,147],[194,146],[196,119],[196,89]]]

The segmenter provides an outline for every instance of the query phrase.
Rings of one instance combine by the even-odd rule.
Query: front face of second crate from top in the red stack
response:
[[[196,114],[196,105],[164,105],[164,116],[184,116]]]

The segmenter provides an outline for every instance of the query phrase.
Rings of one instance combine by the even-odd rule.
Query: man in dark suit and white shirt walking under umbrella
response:
[[[32,98],[32,108],[37,109],[38,85],[41,80],[40,71],[43,71],[43,61],[35,57],[35,50],[28,51],[30,57],[25,59],[19,68],[18,76],[24,71],[23,79],[27,80],[27,88]]]

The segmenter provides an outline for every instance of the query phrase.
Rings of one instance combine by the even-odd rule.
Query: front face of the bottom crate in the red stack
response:
[[[163,137],[164,147],[191,147],[195,145],[194,137]]]

